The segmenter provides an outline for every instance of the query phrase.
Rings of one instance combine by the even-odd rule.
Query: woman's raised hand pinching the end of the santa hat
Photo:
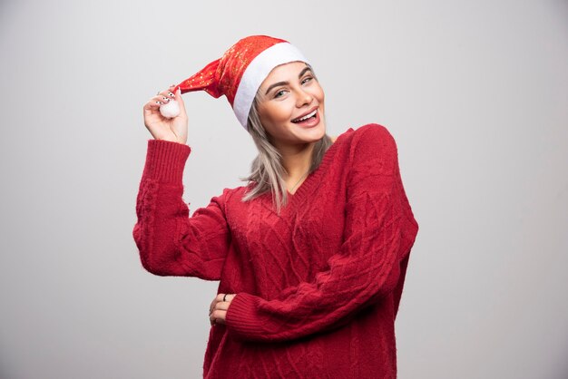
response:
[[[181,91],[173,93],[175,85],[158,92],[149,102],[144,104],[144,125],[156,140],[187,143],[188,118],[185,112]],[[180,115],[172,119],[162,116],[160,105],[175,99],[180,105]]]

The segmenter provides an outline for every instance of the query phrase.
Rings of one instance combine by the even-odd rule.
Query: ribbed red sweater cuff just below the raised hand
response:
[[[162,183],[181,184],[183,169],[191,148],[172,141],[148,140],[142,177]]]

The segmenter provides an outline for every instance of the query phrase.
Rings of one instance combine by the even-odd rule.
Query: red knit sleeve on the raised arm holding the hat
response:
[[[181,143],[148,141],[132,235],[142,266],[153,274],[219,280],[230,245],[224,217],[227,192],[189,217],[181,196],[190,152]]]

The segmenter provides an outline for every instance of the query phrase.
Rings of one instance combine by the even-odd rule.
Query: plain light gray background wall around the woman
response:
[[[397,140],[399,377],[568,377],[567,2],[207,3],[0,3],[0,377],[201,376],[218,283],[152,276],[132,239],[142,105],[249,34],[308,56],[330,135]],[[255,148],[224,98],[184,99],[193,211]]]

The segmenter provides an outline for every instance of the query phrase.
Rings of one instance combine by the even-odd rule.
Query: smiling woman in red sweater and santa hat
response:
[[[182,92],[226,95],[259,156],[189,217]],[[167,119],[160,107],[179,102]],[[324,92],[284,40],[250,36],[144,105],[133,236],[161,276],[220,280],[206,378],[394,378],[395,317],[418,226],[383,126],[326,134]],[[190,185],[199,185],[191,182]]]

